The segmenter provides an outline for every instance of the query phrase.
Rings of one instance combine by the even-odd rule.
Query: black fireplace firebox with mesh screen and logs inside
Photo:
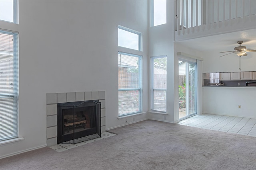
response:
[[[99,100],[57,105],[57,143],[75,141],[94,134],[100,137]]]

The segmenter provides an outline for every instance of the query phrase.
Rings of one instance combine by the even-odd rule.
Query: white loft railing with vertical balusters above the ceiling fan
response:
[[[256,16],[256,0],[176,0],[176,7],[178,36]]]

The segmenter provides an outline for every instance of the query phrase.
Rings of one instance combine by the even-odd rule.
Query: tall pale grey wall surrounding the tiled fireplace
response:
[[[106,129],[118,117],[118,25],[143,35],[143,111],[148,111],[148,2],[141,0],[20,0],[19,136],[1,157],[46,145],[46,93],[106,91]],[[135,51],[128,51],[135,53]],[[135,116],[135,121],[147,115]],[[128,122],[132,118],[128,119]]]

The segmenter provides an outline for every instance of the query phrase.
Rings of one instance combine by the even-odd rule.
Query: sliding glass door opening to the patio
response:
[[[179,119],[196,114],[196,61],[179,60]]]

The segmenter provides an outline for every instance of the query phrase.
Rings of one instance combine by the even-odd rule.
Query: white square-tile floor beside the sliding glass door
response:
[[[184,119],[177,124],[256,137],[256,119],[250,118],[204,113]]]

